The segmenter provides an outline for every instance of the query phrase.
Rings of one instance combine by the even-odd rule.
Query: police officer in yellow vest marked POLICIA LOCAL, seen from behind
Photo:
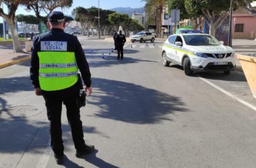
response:
[[[80,111],[77,105],[79,93],[78,69],[88,95],[92,92],[91,72],[85,53],[77,37],[64,33],[65,19],[60,11],[48,15],[50,31],[33,39],[31,54],[31,80],[37,96],[43,95],[50,122],[51,148],[57,164],[63,163],[64,146],[61,130],[61,107],[65,104],[71,127],[76,156],[94,151],[93,145],[85,145]]]

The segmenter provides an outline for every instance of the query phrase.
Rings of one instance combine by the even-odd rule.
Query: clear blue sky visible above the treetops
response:
[[[99,7],[101,9],[113,9],[115,7],[131,7],[131,8],[139,8],[144,7],[145,2],[141,2],[141,0],[99,0]],[[92,6],[98,7],[98,0],[73,0],[73,5],[69,9],[63,9],[63,13],[67,15],[71,15],[71,11],[75,7],[84,7],[89,8]],[[16,12],[16,15],[24,14],[24,15],[33,15],[33,13],[27,13],[25,7],[20,6]],[[61,11],[61,9],[58,9]],[[42,14],[43,15],[43,14]]]

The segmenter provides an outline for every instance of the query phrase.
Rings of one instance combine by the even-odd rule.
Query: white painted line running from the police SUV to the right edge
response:
[[[206,80],[205,78],[201,78],[199,77],[199,79],[203,80],[203,82],[213,86],[213,88],[219,90],[220,92],[223,92],[223,94],[226,94],[227,96],[237,100],[238,102],[240,102],[241,104],[247,106],[248,108],[251,108],[252,110],[256,111],[256,107],[253,106],[252,104],[249,104],[248,102],[245,102],[244,100],[241,100],[241,98],[237,98],[237,96],[227,92],[226,90],[224,90],[223,88],[220,88],[219,86],[213,84],[212,82],[210,82],[209,80]]]

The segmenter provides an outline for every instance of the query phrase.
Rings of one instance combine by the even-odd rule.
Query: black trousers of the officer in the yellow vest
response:
[[[63,155],[64,151],[61,129],[62,104],[65,104],[67,109],[67,120],[71,127],[75,149],[81,150],[85,148],[80,110],[77,108],[78,87],[72,86],[65,90],[43,91],[42,93],[47,108],[47,117],[50,122],[51,148],[55,155]]]

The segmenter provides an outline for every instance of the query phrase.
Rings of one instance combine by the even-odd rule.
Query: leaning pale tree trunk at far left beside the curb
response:
[[[23,52],[21,50],[21,44],[19,43],[19,37],[18,37],[15,21],[7,18],[5,20],[6,20],[6,23],[9,25],[9,29],[11,30],[11,37],[13,39],[13,52]]]

